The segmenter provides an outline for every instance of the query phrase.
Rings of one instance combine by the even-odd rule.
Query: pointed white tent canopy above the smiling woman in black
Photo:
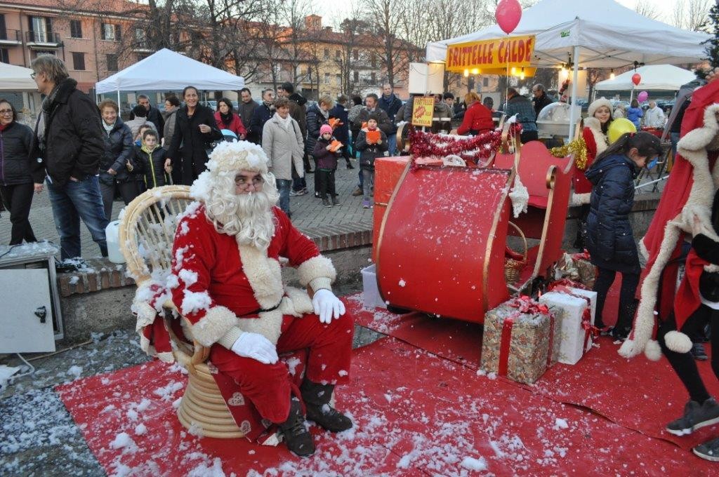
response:
[[[114,91],[181,90],[193,85],[198,90],[239,90],[244,78],[203,62],[162,50],[95,83],[97,94]]]

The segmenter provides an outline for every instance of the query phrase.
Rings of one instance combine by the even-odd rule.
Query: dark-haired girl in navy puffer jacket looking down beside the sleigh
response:
[[[599,269],[595,325],[605,328],[602,312],[607,292],[617,272],[622,274],[617,324],[612,335],[624,339],[631,330],[639,283],[639,256],[629,223],[634,202],[634,179],[647,162],[662,154],[659,138],[646,133],[626,133],[595,159],[585,172],[592,183],[587,216],[587,249]]]

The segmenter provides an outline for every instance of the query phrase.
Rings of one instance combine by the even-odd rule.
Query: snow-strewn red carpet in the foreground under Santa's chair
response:
[[[709,476],[716,469],[666,441],[393,338],[354,352],[352,384],[338,393],[338,407],[357,426],[336,437],[319,434],[308,459],[283,445],[188,434],[172,405],[184,381],[154,361],[57,391],[110,475],[221,475],[213,466],[227,476]],[[486,471],[463,468],[466,458],[482,460]]]

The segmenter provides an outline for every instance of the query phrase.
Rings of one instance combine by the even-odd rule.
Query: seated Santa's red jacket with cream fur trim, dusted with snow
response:
[[[280,256],[297,267],[299,281],[313,290],[330,288],[336,272],[317,246],[300,233],[279,208],[273,208],[275,234],[267,251],[239,245],[218,233],[203,205],[189,208],[178,223],[173,245],[173,302],[203,346],[232,346],[242,331],[260,333],[273,343],[283,316],[312,312],[305,290],[285,287]],[[238,253],[239,250],[239,253]]]

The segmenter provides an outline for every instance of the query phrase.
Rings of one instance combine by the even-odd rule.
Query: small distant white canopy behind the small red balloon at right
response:
[[[641,75],[641,82],[636,86],[631,81],[634,73]],[[600,81],[594,88],[597,91],[679,91],[682,85],[696,78],[691,71],[673,65],[648,65],[637,68],[636,72],[629,70],[613,80]]]

